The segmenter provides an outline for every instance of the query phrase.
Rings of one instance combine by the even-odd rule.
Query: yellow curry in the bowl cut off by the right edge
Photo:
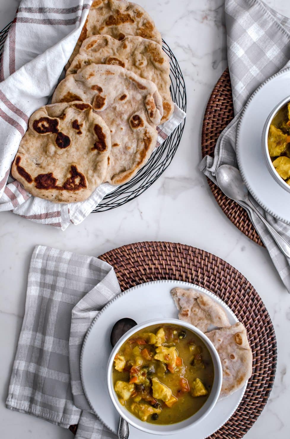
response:
[[[277,173],[290,184],[290,103],[282,107],[272,119],[268,150]]]

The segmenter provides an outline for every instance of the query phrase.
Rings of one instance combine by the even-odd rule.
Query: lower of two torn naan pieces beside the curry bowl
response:
[[[220,398],[229,396],[243,387],[252,374],[253,355],[246,329],[238,322],[228,328],[206,332],[205,335],[215,346],[222,363]]]

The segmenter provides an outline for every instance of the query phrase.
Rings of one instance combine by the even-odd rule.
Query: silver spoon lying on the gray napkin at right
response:
[[[256,215],[265,224],[273,239],[276,241],[280,250],[284,253],[287,258],[290,258],[290,245],[285,241],[285,239],[276,232],[275,229],[265,220],[261,213],[256,209],[256,207],[251,203],[248,197],[248,189],[244,184],[244,180],[240,175],[240,171],[230,165],[219,166],[216,171],[216,180],[219,187],[223,193],[235,201],[243,201],[248,207],[253,210]]]

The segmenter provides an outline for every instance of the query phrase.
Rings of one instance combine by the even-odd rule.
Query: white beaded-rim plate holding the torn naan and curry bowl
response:
[[[117,433],[119,415],[110,399],[106,384],[107,362],[112,347],[110,333],[117,320],[130,317],[138,324],[151,319],[164,317],[178,318],[177,308],[170,295],[175,287],[195,288],[210,295],[219,302],[226,311],[231,324],[237,317],[230,308],[218,297],[204,288],[187,282],[155,281],[130,288],[109,302],[93,321],[81,351],[81,381],[92,410],[103,421],[107,428]],[[246,390],[244,387],[229,397],[222,399],[200,424],[187,428],[182,439],[205,439],[218,430],[237,409]],[[152,435],[130,427],[130,439],[180,439],[180,433],[170,436]]]

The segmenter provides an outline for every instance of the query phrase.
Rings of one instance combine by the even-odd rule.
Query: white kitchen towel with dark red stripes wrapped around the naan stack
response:
[[[81,223],[116,186],[102,184],[88,200],[63,205],[33,197],[11,177],[10,169],[28,119],[52,95],[91,3],[92,0],[22,0],[0,65],[0,212],[11,210],[62,230]],[[156,146],[184,117],[185,113],[175,106],[172,119],[158,127]]]

